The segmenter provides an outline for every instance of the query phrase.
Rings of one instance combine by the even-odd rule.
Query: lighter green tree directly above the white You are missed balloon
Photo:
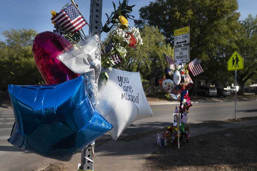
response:
[[[126,62],[123,60],[116,68],[140,72],[143,85],[145,85],[148,76],[167,67],[163,53],[172,57],[173,50],[170,45],[166,45],[165,38],[158,28],[146,25],[140,30],[140,35],[143,45],[127,48]]]

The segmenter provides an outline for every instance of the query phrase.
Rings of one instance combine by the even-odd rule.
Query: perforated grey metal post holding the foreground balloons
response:
[[[92,36],[98,34],[99,40],[101,38],[102,7],[103,0],[90,1],[89,34],[92,34]],[[92,142],[81,151],[80,171],[94,170],[94,144],[95,142]]]

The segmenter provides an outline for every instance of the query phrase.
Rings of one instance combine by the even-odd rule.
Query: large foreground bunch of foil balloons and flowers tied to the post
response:
[[[117,140],[134,121],[152,116],[140,73],[112,69],[117,57],[126,56],[127,46],[143,44],[138,29],[127,27],[133,6],[123,1],[117,9],[123,16],[112,13],[103,31],[108,32],[109,20],[114,24],[101,45],[98,35],[85,36],[81,28],[70,31],[60,25],[60,15],[74,5],[52,11],[54,32],[34,39],[35,64],[46,85],[8,86],[15,115],[8,142],[61,161],[69,161],[108,131]]]

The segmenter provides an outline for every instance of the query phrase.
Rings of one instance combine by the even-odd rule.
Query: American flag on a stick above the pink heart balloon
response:
[[[51,20],[72,33],[78,31],[86,25],[86,21],[74,4],[62,9]]]

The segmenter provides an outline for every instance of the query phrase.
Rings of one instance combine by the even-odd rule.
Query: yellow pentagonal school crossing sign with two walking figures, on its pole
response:
[[[228,59],[228,71],[235,71],[235,119],[237,119],[237,70],[244,69],[244,58],[234,51]]]

